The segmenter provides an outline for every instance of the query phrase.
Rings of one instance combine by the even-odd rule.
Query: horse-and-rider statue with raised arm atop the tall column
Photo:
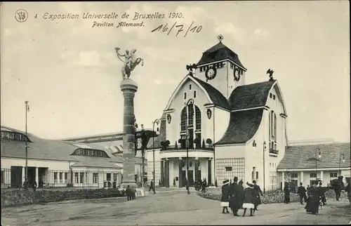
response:
[[[121,60],[121,62],[124,62],[124,66],[121,68],[123,80],[129,79],[129,77],[131,77],[131,72],[136,67],[136,65],[140,64],[140,62],[142,66],[144,65],[144,60],[142,58],[136,57],[135,48],[133,48],[131,51],[126,50],[126,53],[123,55],[119,53],[120,48],[117,47],[114,48],[114,50],[116,51],[119,60]],[[121,58],[124,58],[124,60]]]

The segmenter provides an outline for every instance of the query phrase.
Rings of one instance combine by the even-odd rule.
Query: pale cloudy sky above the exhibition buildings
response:
[[[18,9],[27,11],[25,22],[15,19]],[[133,20],[135,12],[182,18]],[[79,18],[45,20],[45,13]],[[84,20],[83,13],[118,18]],[[267,81],[265,72],[274,70],[289,140],[350,142],[348,1],[6,2],[0,16],[1,126],[25,130],[27,100],[28,132],[41,138],[123,131],[119,47],[135,48],[144,59],[131,75],[138,83],[135,117],[152,128],[187,74],[185,66],[197,63],[222,34],[247,68],[246,84]],[[92,27],[94,21],[114,27]],[[144,26],[116,27],[121,21]],[[201,30],[151,32],[167,22],[185,28],[194,22]]]

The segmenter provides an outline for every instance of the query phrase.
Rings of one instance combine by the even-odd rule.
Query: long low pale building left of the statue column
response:
[[[116,136],[117,137],[117,136]],[[28,180],[39,187],[103,187],[105,181],[121,183],[121,147],[68,140],[48,140],[1,126],[1,187],[21,187],[25,180],[27,139]],[[135,164],[135,180],[141,159]]]

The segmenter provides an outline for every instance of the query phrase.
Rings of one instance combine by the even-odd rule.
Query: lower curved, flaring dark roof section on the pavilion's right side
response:
[[[256,134],[263,116],[263,109],[251,109],[230,113],[230,122],[223,138],[216,145],[240,144]]]

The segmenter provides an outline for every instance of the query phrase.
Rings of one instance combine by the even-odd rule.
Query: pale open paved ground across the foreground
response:
[[[348,201],[329,200],[319,215],[305,213],[303,205],[267,204],[254,217],[222,214],[219,201],[195,192],[159,192],[126,201],[125,198],[65,201],[46,205],[4,208],[3,225],[345,225],[351,220]],[[240,211],[239,213],[242,213]]]

